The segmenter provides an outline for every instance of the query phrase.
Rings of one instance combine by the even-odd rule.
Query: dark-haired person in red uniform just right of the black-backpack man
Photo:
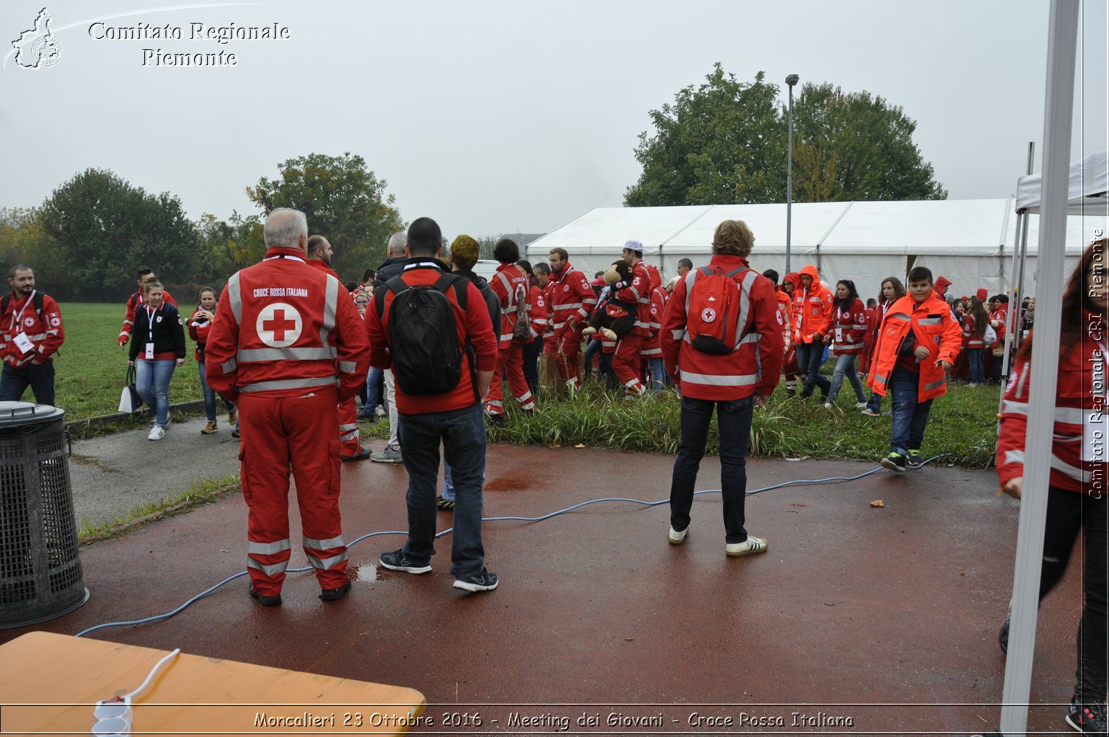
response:
[[[508,380],[508,388],[525,412],[536,408],[536,400],[523,377],[523,342],[512,339],[516,330],[517,305],[528,303],[528,280],[516,265],[520,260],[520,246],[516,241],[502,238],[492,249],[492,258],[500,264],[489,280],[489,289],[500,300],[500,325],[498,325],[497,370],[486,396],[486,412],[495,425],[505,424],[505,403],[501,380]],[[525,314],[527,314],[525,312]]]

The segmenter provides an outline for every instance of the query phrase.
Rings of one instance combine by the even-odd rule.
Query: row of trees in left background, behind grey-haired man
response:
[[[359,155],[312,153],[277,165],[278,175],[246,188],[263,212],[295,208],[309,231],[335,246],[332,267],[344,281],[360,281],[385,260],[389,235],[403,230],[385,180]],[[221,286],[265,253],[262,215],[205,213],[191,221],[181,199],[134,186],[112,171],[88,169],[55,189],[38,208],[0,209],[0,254],[24,263],[59,300],[114,302],[134,290],[134,270],[154,269],[182,295]],[[187,299],[192,299],[191,296]]]

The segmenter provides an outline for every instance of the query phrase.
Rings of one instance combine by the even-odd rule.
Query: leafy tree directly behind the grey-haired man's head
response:
[[[405,228],[396,198],[385,194],[385,180],[366,169],[359,155],[309,153],[277,164],[281,175],[247,186],[251,200],[269,212],[294,208],[308,219],[308,232],[319,233],[335,249],[332,269],[353,279],[385,260],[389,236]]]

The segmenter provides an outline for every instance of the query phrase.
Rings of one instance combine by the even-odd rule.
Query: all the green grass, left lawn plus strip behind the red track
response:
[[[186,310],[192,309],[189,304]],[[65,344],[55,361],[58,405],[67,417],[80,420],[112,414],[119,404],[126,373],[126,352],[115,343],[123,321],[122,304],[67,303]],[[831,373],[832,362],[825,366]],[[952,383],[946,396],[933,404],[925,435],[927,455],[949,454],[945,463],[987,467],[995,444],[998,387],[968,387]],[[32,398],[30,391],[24,398]],[[203,398],[192,342],[185,365],[170,384],[171,402]],[[825,410],[816,400],[790,400],[780,385],[765,410],[755,414],[751,455],[756,457],[817,457],[877,461],[888,452],[889,418],[866,417],[855,408],[854,394],[845,385],[840,406]],[[883,410],[889,408],[888,400]],[[668,392],[660,398],[623,402],[617,394],[587,386],[574,401],[547,400],[533,417],[510,407],[506,428],[489,427],[489,440],[520,445],[606,446],[648,453],[675,453],[678,448],[678,398]],[[385,440],[388,423],[364,424],[364,438]],[[709,453],[718,452],[715,432]]]

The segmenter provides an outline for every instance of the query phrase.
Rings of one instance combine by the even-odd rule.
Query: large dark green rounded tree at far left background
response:
[[[111,171],[73,176],[42,203],[38,222],[54,243],[74,299],[122,299],[140,263],[164,281],[193,276],[196,233],[181,200],[147,193]]]

